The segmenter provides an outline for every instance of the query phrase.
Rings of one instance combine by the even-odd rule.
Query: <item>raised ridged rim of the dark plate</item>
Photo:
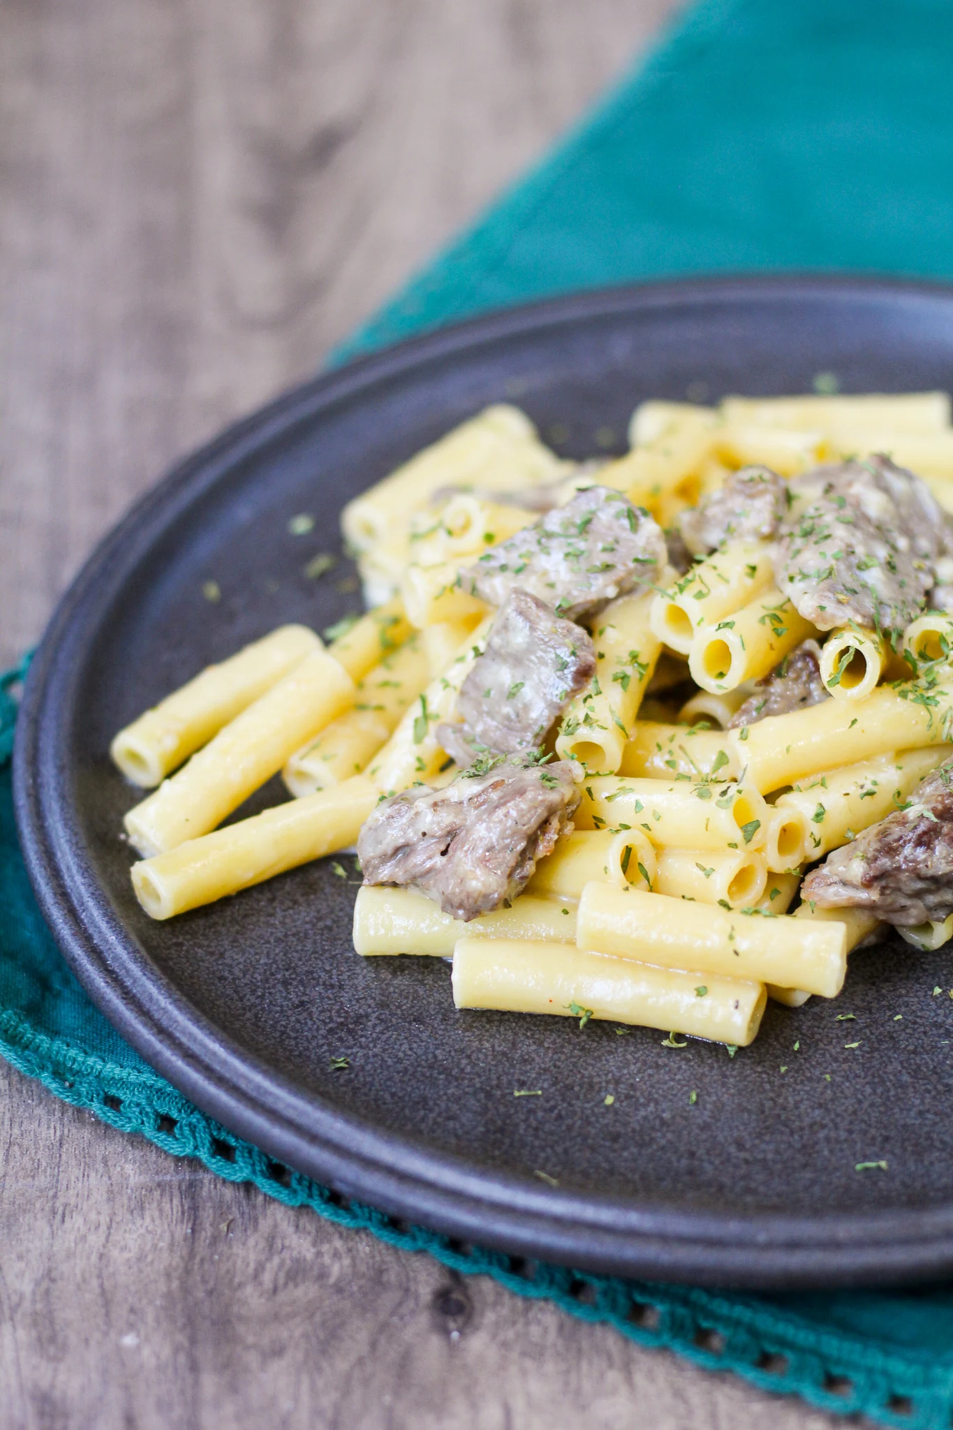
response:
[[[953,286],[836,273],[717,276],[587,289],[480,313],[320,372],[227,426],[153,483],[101,538],[60,598],[33,658],[13,754],[14,809],[30,882],[53,937],[93,1002],[140,1055],[234,1134],[386,1214],[502,1251],[579,1268],[694,1284],[794,1288],[923,1278],[953,1270],[953,1198],[920,1210],[713,1213],[649,1198],[539,1188],[369,1130],[234,1044],[141,955],[101,888],[83,895],[59,755],[60,709],[81,669],[70,633],[109,601],[183,503],[240,455],[366,388],[510,333],[626,310],[797,296],[923,297],[953,310]],[[953,316],[953,312],[952,312]],[[87,875],[89,878],[89,875]],[[76,892],[76,888],[80,892]],[[161,1015],[161,1021],[160,1021]],[[304,1127],[307,1120],[310,1124]],[[343,1145],[347,1143],[347,1145]]]

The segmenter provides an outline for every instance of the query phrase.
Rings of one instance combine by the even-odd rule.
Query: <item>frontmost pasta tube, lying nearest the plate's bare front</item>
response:
[[[652,895],[646,895],[652,898]],[[572,944],[460,938],[453,951],[457,1008],[606,1018],[747,1047],[764,1012],[764,990],[740,978],[650,968],[582,952]]]

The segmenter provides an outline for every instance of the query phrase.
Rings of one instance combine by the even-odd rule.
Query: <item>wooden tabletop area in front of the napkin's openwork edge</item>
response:
[[[289,1210],[3,1070],[10,1430],[833,1430]]]

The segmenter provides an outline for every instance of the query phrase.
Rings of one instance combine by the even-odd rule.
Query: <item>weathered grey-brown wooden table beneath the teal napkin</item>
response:
[[[3,664],[169,462],[310,373],[672,7],[3,0]],[[0,1077],[4,1430],[834,1423]]]

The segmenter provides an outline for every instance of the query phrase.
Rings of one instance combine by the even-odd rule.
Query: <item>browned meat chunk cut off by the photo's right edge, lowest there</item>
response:
[[[953,759],[933,769],[880,824],[832,849],[807,875],[802,899],[822,908],[867,908],[914,927],[953,914]]]

